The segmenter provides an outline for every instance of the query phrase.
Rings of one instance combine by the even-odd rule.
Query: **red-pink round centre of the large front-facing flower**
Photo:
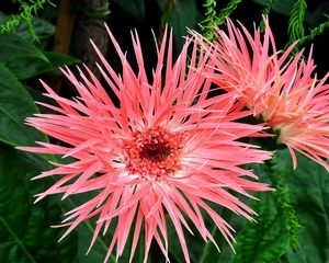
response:
[[[123,141],[126,171],[145,176],[170,176],[178,171],[183,137],[160,126],[134,132]]]

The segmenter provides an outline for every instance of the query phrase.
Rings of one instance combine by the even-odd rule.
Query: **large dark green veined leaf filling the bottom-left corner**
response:
[[[50,197],[33,205],[32,195],[47,185],[30,181],[48,167],[41,158],[0,144],[0,262],[70,263],[77,236],[58,243],[60,207]]]

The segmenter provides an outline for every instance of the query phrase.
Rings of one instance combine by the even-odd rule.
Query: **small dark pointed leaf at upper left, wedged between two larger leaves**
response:
[[[41,73],[58,70],[59,67],[78,64],[80,60],[58,53],[43,52],[48,61],[35,58],[21,58],[7,62],[7,67],[16,76],[24,80],[36,77]]]

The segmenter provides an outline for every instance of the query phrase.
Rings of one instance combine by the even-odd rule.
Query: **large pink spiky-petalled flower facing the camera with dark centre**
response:
[[[172,65],[172,37],[170,34],[168,41],[164,33],[150,82],[137,34],[132,35],[137,73],[110,31],[109,34],[122,61],[122,76],[115,73],[94,48],[103,64],[104,68],[99,68],[111,89],[111,96],[87,67],[88,76],[80,70],[82,82],[69,69],[63,70],[77,88],[79,99],[61,98],[43,83],[48,92],[46,95],[59,106],[39,104],[57,113],[36,114],[27,124],[65,145],[37,142],[41,147],[21,149],[72,157],[76,161],[55,163],[55,169],[35,178],[57,178],[52,187],[38,194],[37,201],[58,193],[64,193],[65,198],[97,191],[92,199],[69,211],[61,226],[69,226],[65,237],[81,221],[97,217],[92,245],[101,230],[106,232],[117,218],[105,261],[114,247],[116,256],[122,255],[134,229],[132,261],[143,221],[145,262],[152,239],[169,260],[168,216],[185,261],[190,262],[183,226],[191,229],[185,218],[195,225],[204,240],[216,244],[202,210],[230,243],[231,227],[205,201],[251,219],[252,209],[227,190],[246,196],[250,196],[246,191],[269,190],[265,184],[247,180],[257,176],[239,167],[270,158],[271,153],[238,141],[245,136],[258,135],[262,127],[232,122],[250,114],[240,111],[232,93],[209,96],[211,81],[205,81],[203,71],[211,69],[204,67],[206,57],[197,54],[195,44],[191,47],[190,39]],[[190,47],[193,50],[186,69]]]

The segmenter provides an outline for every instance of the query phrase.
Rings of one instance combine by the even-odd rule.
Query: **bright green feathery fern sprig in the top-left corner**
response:
[[[46,3],[54,5],[49,0],[30,0],[31,5],[23,0],[19,0],[22,12],[20,14],[12,15],[11,19],[0,26],[0,33],[10,32],[21,22],[25,21],[31,32],[32,42],[38,41],[35,27],[32,23],[32,18],[37,15],[38,9],[42,9]]]

